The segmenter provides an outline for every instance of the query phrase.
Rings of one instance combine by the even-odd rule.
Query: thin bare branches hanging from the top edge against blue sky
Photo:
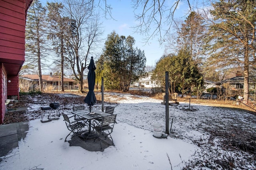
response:
[[[187,2],[191,11],[189,0]],[[167,0],[132,0],[132,3],[134,12],[142,9],[141,13],[135,14],[136,20],[140,22],[134,27],[135,32],[145,36],[144,43],[157,36],[159,43],[162,44],[165,37],[170,34],[174,12],[180,0],[174,2],[172,6],[167,5],[169,3]]]

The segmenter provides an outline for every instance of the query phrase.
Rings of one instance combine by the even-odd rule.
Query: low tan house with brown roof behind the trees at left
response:
[[[23,78],[26,78],[27,80],[31,80],[39,84],[39,77],[37,74],[26,74],[22,75]],[[60,77],[59,76],[54,76],[52,73],[50,75],[42,75],[42,81],[43,85],[52,85],[55,86],[56,90],[60,88]],[[64,82],[64,89],[74,89],[74,85],[76,85],[76,80],[72,80],[70,78],[63,78]]]

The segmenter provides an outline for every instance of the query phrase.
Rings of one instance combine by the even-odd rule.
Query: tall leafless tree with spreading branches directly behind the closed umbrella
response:
[[[86,0],[64,0],[66,16],[70,18],[67,32],[68,61],[78,80],[78,91],[83,90],[84,70],[87,59],[94,54],[101,41],[101,23],[95,14],[94,3]],[[88,58],[89,57],[89,58]]]

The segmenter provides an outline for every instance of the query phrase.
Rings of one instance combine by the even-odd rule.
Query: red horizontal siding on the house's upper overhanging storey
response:
[[[0,58],[2,59],[13,59],[22,63],[25,60],[25,10],[25,0],[0,0]]]

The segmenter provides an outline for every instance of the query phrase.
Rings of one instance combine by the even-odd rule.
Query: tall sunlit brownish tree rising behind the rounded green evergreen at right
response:
[[[165,52],[178,53],[180,49],[189,49],[195,63],[201,64],[206,52],[204,45],[208,28],[204,22],[197,12],[191,12],[185,21],[176,21],[173,27],[176,32],[166,38]]]

